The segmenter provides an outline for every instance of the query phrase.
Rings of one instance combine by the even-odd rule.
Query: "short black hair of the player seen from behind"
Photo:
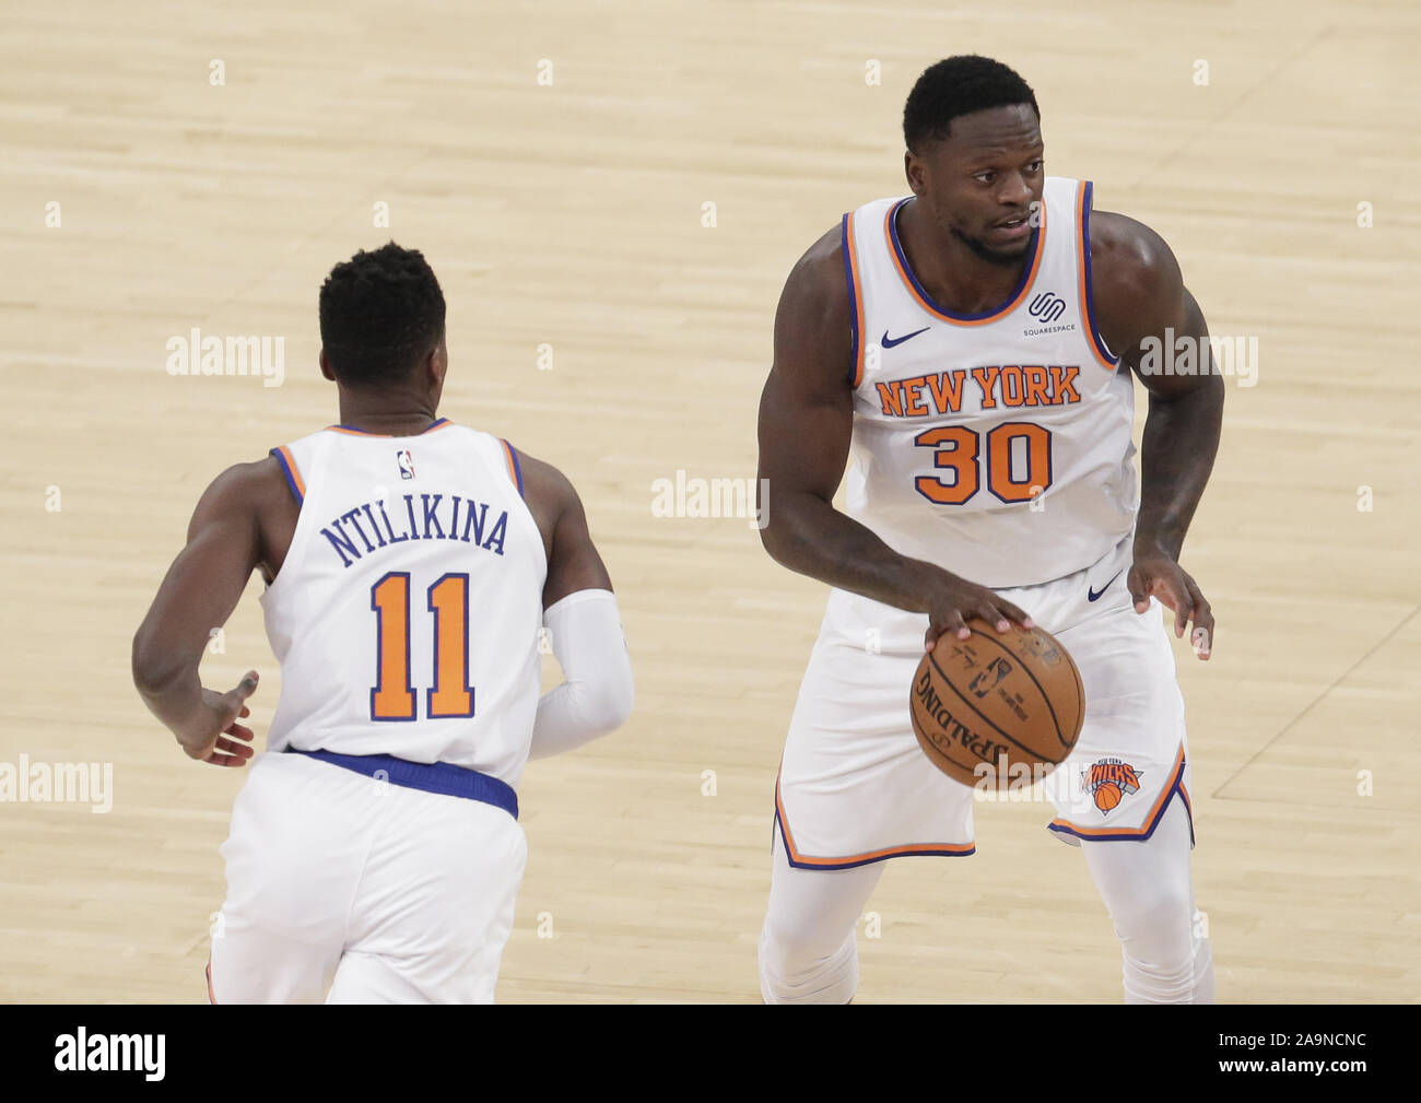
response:
[[[391,242],[341,262],[321,284],[321,344],[347,387],[401,382],[443,340],[443,291],[418,249]]]

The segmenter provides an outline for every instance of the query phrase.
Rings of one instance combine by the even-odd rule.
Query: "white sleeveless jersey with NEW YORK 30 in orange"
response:
[[[1049,178],[1017,289],[935,304],[880,199],[844,216],[854,304],[845,513],[995,588],[1071,574],[1131,530],[1134,388],[1091,324],[1090,183]]]

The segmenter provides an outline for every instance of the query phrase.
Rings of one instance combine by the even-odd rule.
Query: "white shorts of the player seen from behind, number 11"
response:
[[[222,846],[213,1002],[493,1001],[527,860],[509,812],[301,753],[250,770]]]

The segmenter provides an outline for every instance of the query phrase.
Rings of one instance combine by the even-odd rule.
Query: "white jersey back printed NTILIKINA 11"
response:
[[[281,699],[267,746],[448,762],[516,786],[541,685],[547,556],[516,453],[439,419],[273,449],[301,502],[261,596]]]

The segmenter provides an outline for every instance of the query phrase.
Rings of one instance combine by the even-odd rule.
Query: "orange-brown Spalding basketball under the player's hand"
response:
[[[1040,628],[998,633],[978,617],[968,627],[971,637],[942,635],[918,664],[912,731],[953,780],[1032,785],[1076,746],[1086,718],[1080,672]]]

